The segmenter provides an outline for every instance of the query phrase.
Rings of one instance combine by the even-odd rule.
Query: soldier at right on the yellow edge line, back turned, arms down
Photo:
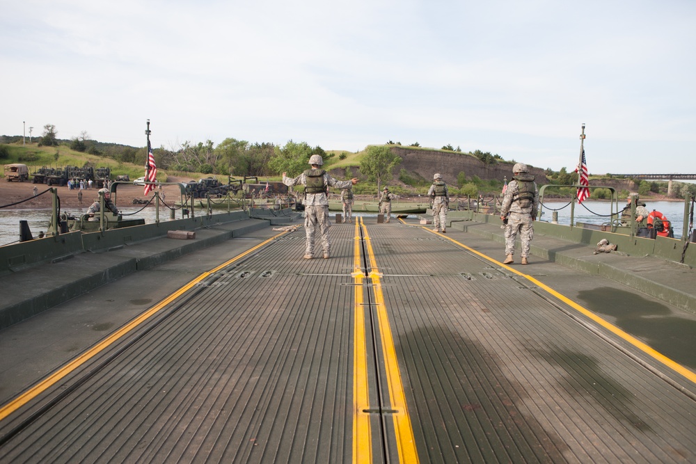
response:
[[[507,185],[503,205],[500,207],[500,219],[506,223],[505,227],[505,261],[503,264],[512,264],[512,255],[515,252],[515,239],[520,234],[522,242],[522,264],[527,264],[529,246],[534,237],[534,221],[537,219],[539,208],[539,189],[534,182],[534,176],[529,173],[529,168],[523,163],[516,163],[512,167],[512,181]],[[507,222],[506,222],[507,221]]]

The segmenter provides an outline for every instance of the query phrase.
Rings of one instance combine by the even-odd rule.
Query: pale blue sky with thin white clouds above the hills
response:
[[[0,134],[696,173],[696,1],[0,0]]]

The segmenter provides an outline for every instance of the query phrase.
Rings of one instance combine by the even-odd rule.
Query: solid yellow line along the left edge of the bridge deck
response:
[[[29,388],[29,390],[26,390],[24,393],[20,394],[18,397],[10,401],[9,403],[6,403],[2,408],[0,408],[0,421],[8,417],[8,415],[14,413],[17,409],[21,408],[24,406],[26,403],[29,403],[32,399],[37,397],[39,394],[47,390],[49,387],[52,385],[56,384],[57,382],[61,381],[62,378],[70,374],[72,371],[80,367],[81,365],[84,365],[85,362],[88,360],[94,358],[97,354],[101,353],[104,351],[104,349],[108,348],[112,344],[118,341],[121,337],[124,337],[127,335],[129,332],[140,326],[142,323],[150,319],[153,315],[157,314],[159,310],[161,310],[163,307],[168,305],[169,303],[175,301],[177,298],[179,298],[182,294],[186,293],[193,287],[194,285],[198,284],[201,280],[207,278],[207,276],[211,275],[212,273],[215,273],[219,271],[220,269],[223,269],[226,266],[229,266],[235,261],[238,261],[239,259],[242,259],[246,255],[249,255],[250,253],[253,253],[255,250],[258,250],[262,246],[267,245],[267,243],[270,243],[271,241],[274,241],[278,237],[282,236],[283,234],[287,234],[288,232],[281,232],[280,234],[274,235],[274,237],[271,237],[270,239],[263,241],[262,243],[259,243],[257,246],[254,246],[253,248],[250,248],[246,250],[244,253],[241,253],[240,255],[237,255],[230,259],[228,262],[221,264],[220,266],[217,266],[216,268],[212,269],[211,271],[206,271],[201,275],[198,275],[197,278],[191,280],[191,282],[187,283],[177,291],[175,291],[173,294],[170,294],[164,300],[161,300],[157,305],[150,307],[149,310],[143,312],[139,317],[136,317],[129,323],[127,323],[125,326],[122,326],[119,330],[116,332],[112,333],[109,335],[109,337],[106,337],[106,339],[102,340],[102,342],[96,344],[93,346],[91,349],[86,351],[85,353],[82,353],[79,355],[77,358],[74,360],[68,362],[68,364],[64,365],[57,371],[55,371],[53,374],[45,378],[44,380],[40,381],[39,383],[35,384],[33,387]]]

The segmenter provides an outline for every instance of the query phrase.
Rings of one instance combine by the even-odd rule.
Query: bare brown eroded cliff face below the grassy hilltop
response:
[[[437,150],[411,150],[406,147],[391,147],[391,150],[402,159],[401,164],[392,171],[395,179],[399,177],[400,170],[405,169],[411,175],[418,175],[428,180],[433,178],[434,173],[441,173],[448,184],[456,184],[457,176],[462,171],[466,173],[468,179],[476,175],[484,180],[498,179],[502,182],[505,177],[507,177],[508,182],[512,180],[514,163],[484,164],[468,154]],[[535,177],[537,184],[546,184],[543,168],[535,168],[534,166],[529,166],[529,168],[530,174]]]

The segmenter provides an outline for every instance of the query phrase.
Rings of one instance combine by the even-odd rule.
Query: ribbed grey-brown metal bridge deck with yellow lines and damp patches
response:
[[[45,372],[4,362],[0,461],[696,461],[693,365],[621,330],[609,298],[633,292],[538,259],[502,266],[486,257],[499,245],[451,229],[365,218],[331,237],[331,259],[302,259],[300,229],[177,260],[139,278],[173,292],[201,259],[221,266],[146,313],[129,295],[120,319],[129,282],[104,289],[115,307],[94,323],[109,330],[73,350],[81,364],[54,353],[34,370],[61,377],[10,408]],[[3,349],[104,305],[88,298],[3,330]]]

